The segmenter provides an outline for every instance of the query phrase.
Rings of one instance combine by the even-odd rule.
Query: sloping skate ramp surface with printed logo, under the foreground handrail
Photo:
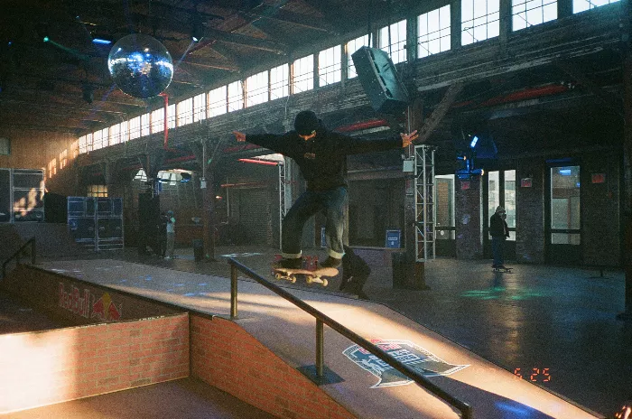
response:
[[[74,275],[88,282],[195,311],[225,318],[229,314],[227,277],[112,260],[60,261],[42,266],[63,275]],[[238,289],[239,312],[235,323],[291,368],[302,370],[313,366],[314,318],[263,285],[241,280]],[[319,293],[318,288],[314,291],[286,290],[349,330],[381,345],[396,358],[423,370],[423,374],[437,386],[471,405],[475,418],[600,417],[516,377],[384,305]],[[334,379],[318,388],[350,413],[362,418],[459,417],[451,406],[422,387],[409,383],[338,332],[325,326],[324,336],[325,366],[329,377]],[[255,351],[233,356],[256,355]],[[305,391],[303,387],[288,386],[286,374],[268,370],[266,365],[260,368],[269,386],[283,386],[289,396],[293,391]]]

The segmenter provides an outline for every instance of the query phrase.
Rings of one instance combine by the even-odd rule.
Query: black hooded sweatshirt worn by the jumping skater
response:
[[[382,152],[402,146],[402,138],[357,138],[322,129],[303,140],[296,131],[283,135],[246,135],[248,143],[261,145],[292,158],[307,181],[308,191],[327,191],[347,186],[347,155]]]

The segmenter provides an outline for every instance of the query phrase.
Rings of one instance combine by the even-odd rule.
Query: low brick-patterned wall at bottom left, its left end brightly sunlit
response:
[[[189,376],[189,316],[0,336],[0,414]]]

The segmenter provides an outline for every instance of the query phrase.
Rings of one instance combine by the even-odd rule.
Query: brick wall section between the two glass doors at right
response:
[[[516,261],[544,264],[544,161],[524,159],[516,170]],[[521,186],[531,179],[530,187]]]

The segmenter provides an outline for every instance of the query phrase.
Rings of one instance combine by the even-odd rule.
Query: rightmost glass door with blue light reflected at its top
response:
[[[550,168],[548,262],[581,263],[580,166]]]

